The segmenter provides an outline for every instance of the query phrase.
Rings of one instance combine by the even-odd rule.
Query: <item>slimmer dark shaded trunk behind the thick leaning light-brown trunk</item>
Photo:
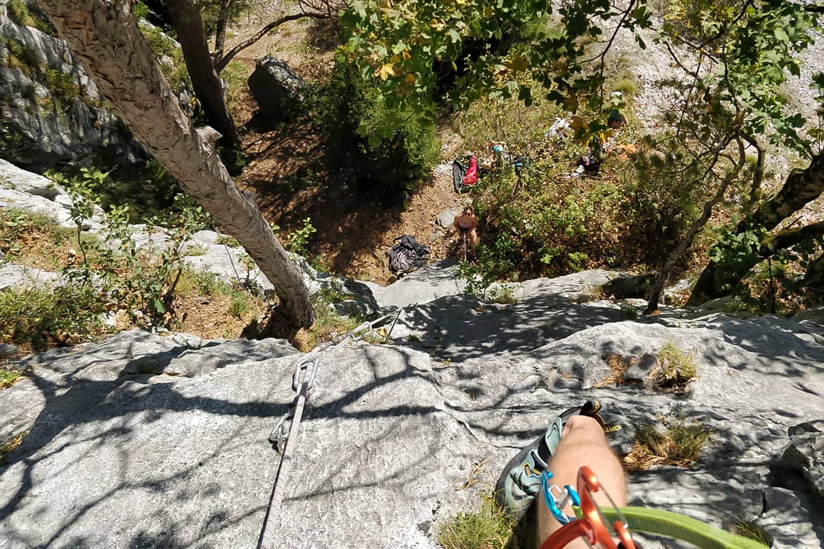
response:
[[[206,118],[213,128],[218,130],[232,147],[239,149],[242,145],[241,135],[237,133],[232,114],[229,114],[222,82],[208,53],[199,6],[194,0],[167,0],[166,7],[169,9],[171,24],[175,26],[177,41],[183,49],[183,58],[192,80],[194,95],[200,101],[200,106],[203,107]]]

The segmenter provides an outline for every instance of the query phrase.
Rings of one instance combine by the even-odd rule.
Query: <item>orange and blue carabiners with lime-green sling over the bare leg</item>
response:
[[[577,505],[575,497],[569,492],[572,490],[571,486],[564,487],[568,489],[567,495],[560,502],[553,491],[553,489],[559,491],[558,486],[545,487],[551,477],[550,473],[545,480],[544,475],[541,474],[541,491],[547,507],[550,508],[555,519],[558,519],[559,523],[564,526],[546,538],[541,544],[541,549],[560,549],[578,537],[583,537],[590,547],[635,549],[637,546],[632,541],[630,532],[673,537],[701,549],[764,549],[760,542],[725,532],[720,528],[702,523],[700,520],[672,513],[672,511],[647,507],[618,507],[610,495],[603,490],[592,469],[586,466],[578,469],[576,496],[579,502]],[[603,491],[610,506],[597,505],[592,493],[598,491]],[[563,509],[569,501],[572,501],[574,505],[576,518],[564,522],[570,517],[560,509]],[[559,510],[564,520],[559,519],[553,507]],[[617,537],[619,542],[616,543],[613,537]]]

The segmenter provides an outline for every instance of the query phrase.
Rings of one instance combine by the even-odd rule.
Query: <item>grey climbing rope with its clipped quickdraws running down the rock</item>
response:
[[[287,486],[284,479],[288,478],[289,464],[291,463],[294,446],[297,444],[297,431],[303,418],[303,409],[309,400],[309,390],[315,383],[317,370],[321,365],[321,359],[317,356],[318,353],[339,347],[349,340],[353,342],[360,341],[363,337],[372,333],[377,325],[383,323],[392,315],[395,315],[395,321],[397,321],[401,310],[398,309],[389,314],[384,314],[378,319],[364,322],[358,325],[357,328],[335,337],[329,342],[321,343],[321,345],[309,351],[306,358],[295,365],[295,372],[292,376],[292,390],[296,393],[295,398],[288,412],[279,418],[274,428],[269,432],[269,444],[272,444],[272,448],[280,454],[280,463],[278,472],[274,476],[272,494],[269,496],[269,506],[266,509],[263,528],[260,530],[258,549],[273,549],[282,545],[275,539],[278,531],[276,521],[279,519],[280,507],[283,504],[283,495]],[[392,326],[395,326],[395,322],[392,323]],[[290,422],[288,428],[287,422]]]

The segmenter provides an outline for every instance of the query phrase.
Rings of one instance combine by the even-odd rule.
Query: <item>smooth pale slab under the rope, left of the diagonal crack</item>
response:
[[[266,435],[292,402],[295,360],[44,390],[0,469],[5,547],[253,546],[279,457]],[[460,488],[485,454],[439,401],[421,353],[325,354],[278,547],[436,547],[428,525],[471,505]]]

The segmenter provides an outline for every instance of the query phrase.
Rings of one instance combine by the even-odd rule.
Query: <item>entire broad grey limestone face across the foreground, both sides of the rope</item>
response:
[[[277,547],[438,547],[440,524],[587,398],[630,432],[711,430],[694,467],[631,474],[631,505],[820,547],[821,503],[793,470],[820,478],[822,328],[687,309],[628,319],[594,299],[609,278],[527,281],[502,305],[448,293],[448,266],[433,264],[377,291],[383,307],[420,305],[400,305],[392,344],[317,355]],[[644,384],[667,346],[695,365],[688,393]],[[616,374],[615,356],[639,371]],[[303,358],[279,340],[138,330],[30,356],[26,378],[0,390],[0,439],[28,432],[0,468],[4,549],[254,546],[279,463],[267,436]]]

